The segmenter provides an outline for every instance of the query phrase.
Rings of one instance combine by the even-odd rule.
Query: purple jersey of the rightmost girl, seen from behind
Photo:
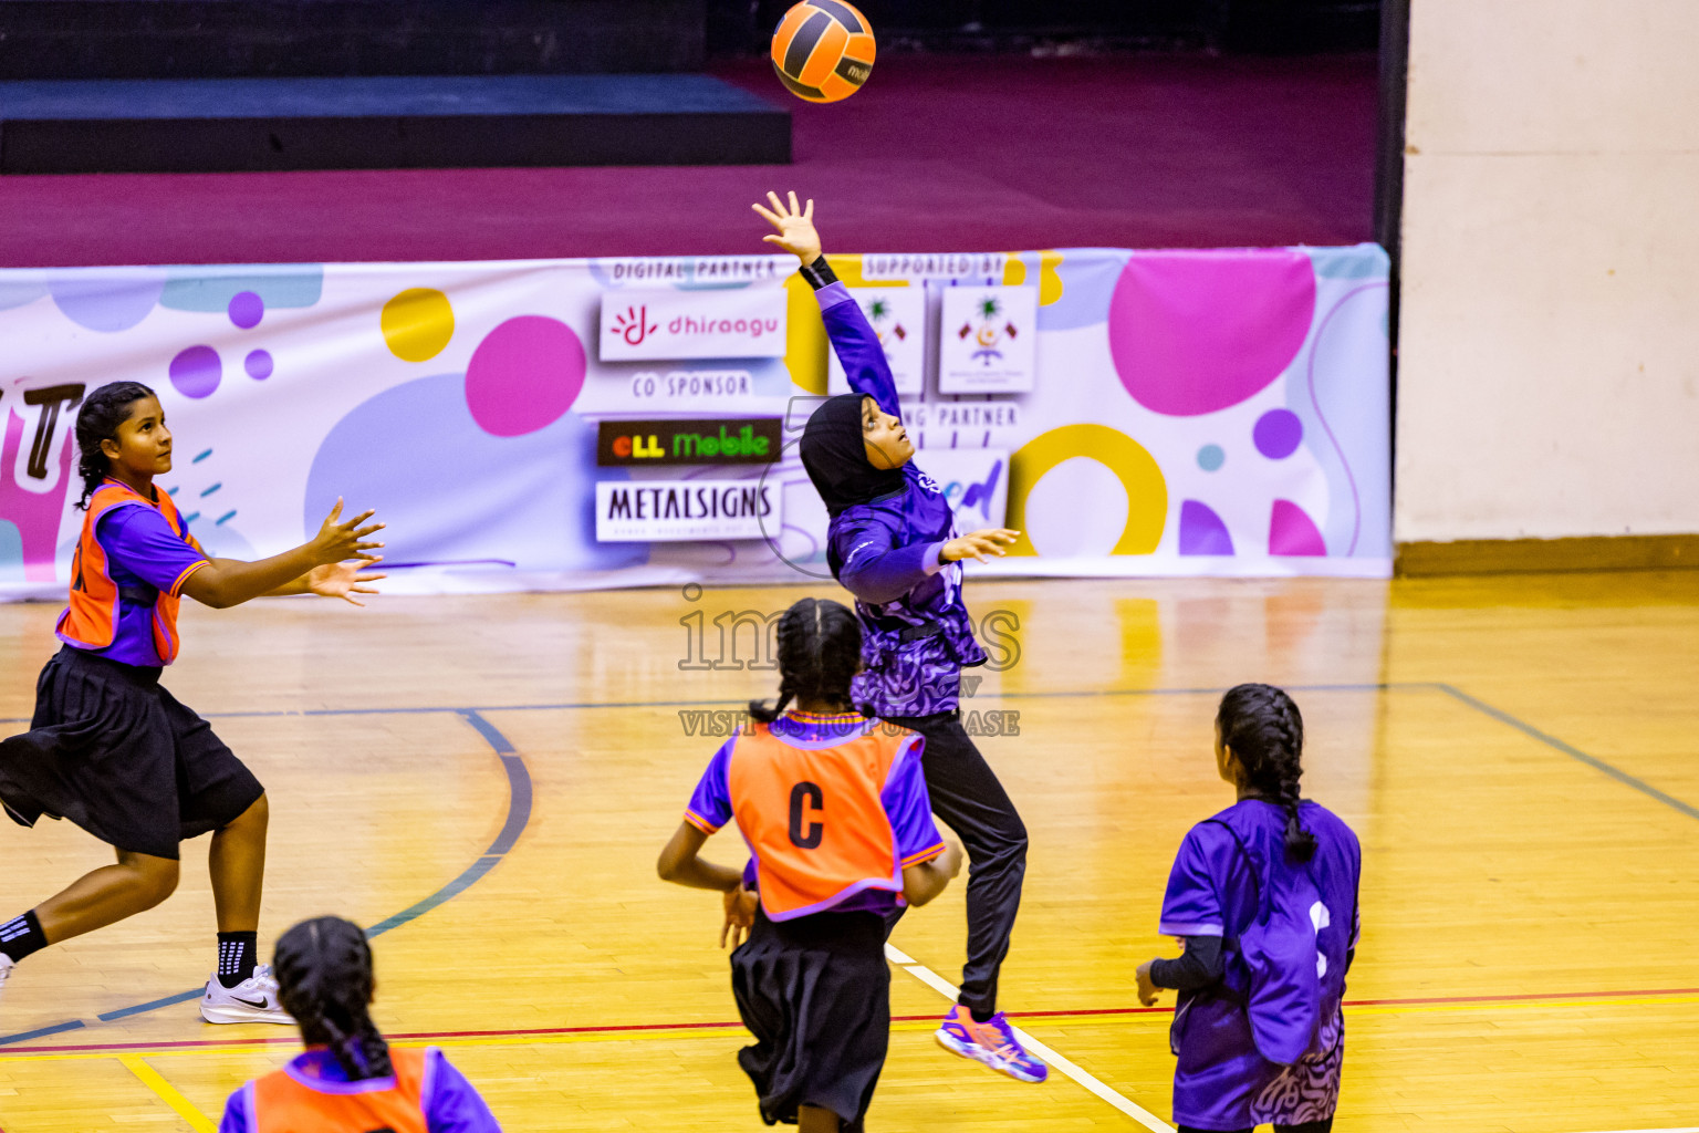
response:
[[[1191,827],[1174,858],[1160,931],[1220,936],[1225,956],[1222,982],[1183,990],[1174,1007],[1171,1041],[1179,1057],[1174,1121],[1179,1125],[1203,1130],[1242,1130],[1267,1121],[1303,1125],[1332,1116],[1339,1102],[1341,1002],[1347,955],[1359,933],[1361,849],[1351,827],[1320,803],[1301,803],[1300,817],[1317,841],[1308,865],[1286,861],[1286,812],[1257,798]],[[1305,885],[1288,885],[1286,873],[1303,873]],[[1317,897],[1308,909],[1284,910],[1315,929],[1322,997],[1317,1051],[1291,1065],[1269,1062],[1257,1051],[1245,1007],[1250,973],[1237,941],[1259,919],[1262,885],[1276,900],[1300,888]]]

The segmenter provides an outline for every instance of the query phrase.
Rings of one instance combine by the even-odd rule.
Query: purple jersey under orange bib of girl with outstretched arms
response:
[[[95,525],[95,538],[105,550],[107,576],[119,589],[119,612],[112,644],[88,652],[141,668],[163,666],[153,644],[153,595],[177,596],[207,557],[173,532],[163,515],[141,503],[109,508]],[[63,634],[59,640],[76,645]]]

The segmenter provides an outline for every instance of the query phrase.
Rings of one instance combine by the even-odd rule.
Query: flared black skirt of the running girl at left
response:
[[[70,819],[153,858],[228,826],[265,788],[160,671],[66,645],[36,683],[31,730],[0,741],[0,802],[22,826]]]

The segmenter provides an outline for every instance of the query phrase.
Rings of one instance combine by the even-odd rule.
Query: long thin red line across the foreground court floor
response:
[[[1505,1004],[1505,1002],[1555,1002],[1555,1001],[1575,1001],[1575,999],[1633,999],[1643,995],[1699,995],[1699,987],[1660,987],[1660,989],[1640,989],[1640,990],[1621,990],[1621,992],[1531,992],[1522,995],[1427,995],[1419,999],[1347,999],[1347,1007],[1414,1007],[1422,1004]],[[1019,1019],[1052,1019],[1052,1017],[1082,1017],[1082,1016],[1143,1016],[1143,1014],[1172,1014],[1172,1007],[1084,1007],[1075,1011],[1021,1011],[1016,1012]],[[921,1023],[926,1019],[936,1019],[936,1014],[924,1016],[892,1016],[892,1023]],[[396,1043],[421,1041],[433,1038],[545,1038],[549,1034],[625,1034],[625,1033],[644,1033],[644,1031],[708,1031],[708,1029],[736,1029],[742,1023],[615,1023],[615,1024],[598,1024],[598,1026],[549,1026],[549,1028],[516,1028],[503,1031],[396,1031],[387,1038]],[[217,1046],[299,1046],[301,1040],[294,1034],[279,1038],[200,1038],[200,1040],[178,1040],[163,1043],[87,1043],[76,1046],[5,1046],[0,1048],[0,1057],[10,1055],[75,1055],[75,1053],[104,1053],[104,1051],[126,1051],[126,1050],[206,1050]],[[3,1133],[3,1131],[0,1131]]]

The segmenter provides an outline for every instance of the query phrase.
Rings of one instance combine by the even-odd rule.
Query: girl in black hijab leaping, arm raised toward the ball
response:
[[[788,207],[768,194],[754,206],[778,234],[765,236],[802,262],[833,348],[856,392],[829,397],[802,433],[802,464],[831,515],[826,559],[856,596],[861,662],[856,702],[926,737],[921,764],[933,810],[962,836],[967,883],[967,965],[957,1006],[938,1041],[1023,1082],[1048,1067],[1030,1055],[997,1011],[997,972],[1021,905],[1026,827],[1002,783],[962,727],[962,668],[985,662],[962,603],[963,559],[1001,555],[1018,532],[958,535],[938,484],[912,464],[897,386],[878,335],[821,255],[814,202]],[[899,910],[900,916],[900,910]],[[894,919],[892,919],[894,922]]]

